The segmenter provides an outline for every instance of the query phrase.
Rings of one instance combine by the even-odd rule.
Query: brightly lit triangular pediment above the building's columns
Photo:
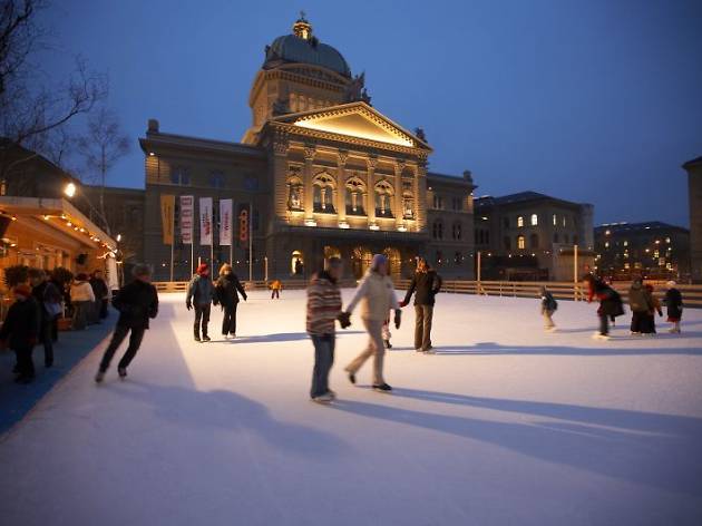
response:
[[[364,103],[285,115],[274,120],[293,126],[410,148],[429,146]]]

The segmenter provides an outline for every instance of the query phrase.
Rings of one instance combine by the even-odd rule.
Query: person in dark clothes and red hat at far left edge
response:
[[[22,283],[13,289],[14,303],[10,305],[8,314],[0,329],[0,347],[7,345],[17,355],[18,383],[29,383],[35,379],[35,362],[31,352],[39,338],[39,304],[32,298],[31,286]]]

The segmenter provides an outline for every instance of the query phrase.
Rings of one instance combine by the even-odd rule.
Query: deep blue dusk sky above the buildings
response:
[[[264,47],[304,9],[365,71],[373,106],[425,128],[430,169],[476,195],[533,189],[595,205],[596,222],[688,225],[683,162],[702,155],[702,2],[56,1],[43,13],[60,79],[71,56],[109,74],[133,138],[109,183],[143,186],[137,138],[240,140]]]

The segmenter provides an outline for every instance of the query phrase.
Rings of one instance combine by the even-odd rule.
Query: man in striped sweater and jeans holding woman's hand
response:
[[[335,394],[329,389],[329,371],[334,363],[334,322],[342,329],[351,323],[341,313],[341,293],[337,282],[341,277],[339,257],[324,262],[324,270],[314,274],[308,286],[308,333],[314,343],[314,370],[310,396],[315,402],[331,402]]]

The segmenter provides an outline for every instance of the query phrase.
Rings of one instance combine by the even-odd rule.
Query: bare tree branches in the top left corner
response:
[[[52,134],[76,116],[87,114],[107,95],[107,78],[88,70],[76,58],[69,78],[47,86],[41,69],[31,64],[33,52],[46,47],[47,31],[38,13],[46,0],[0,0],[0,177],[6,178],[20,163],[36,156],[8,157],[16,145],[45,153],[55,142]]]

